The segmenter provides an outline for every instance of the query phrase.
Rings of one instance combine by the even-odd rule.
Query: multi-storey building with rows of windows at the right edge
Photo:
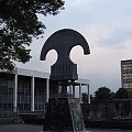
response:
[[[121,61],[122,88],[132,89],[132,59]]]

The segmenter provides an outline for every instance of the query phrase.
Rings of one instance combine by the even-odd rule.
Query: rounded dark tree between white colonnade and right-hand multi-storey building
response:
[[[113,92],[107,87],[100,87],[97,91],[95,91],[94,102],[106,103],[111,100],[113,97]]]

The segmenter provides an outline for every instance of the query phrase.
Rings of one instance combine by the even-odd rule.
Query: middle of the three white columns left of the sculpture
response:
[[[34,111],[34,77],[31,78],[31,111]]]

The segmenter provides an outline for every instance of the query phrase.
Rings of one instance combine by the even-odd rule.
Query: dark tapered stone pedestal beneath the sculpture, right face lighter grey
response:
[[[50,98],[43,131],[84,131],[84,119],[79,99]]]

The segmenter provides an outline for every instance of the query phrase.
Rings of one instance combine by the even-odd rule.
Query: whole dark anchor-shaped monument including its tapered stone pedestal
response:
[[[79,99],[67,94],[67,86],[78,79],[77,64],[69,57],[72,48],[76,45],[82,47],[85,55],[90,54],[88,43],[80,33],[64,29],[52,34],[42,48],[41,61],[45,61],[48,51],[57,52],[57,62],[51,66],[51,80],[57,81],[62,87],[57,98],[48,99],[44,131],[85,130]]]

